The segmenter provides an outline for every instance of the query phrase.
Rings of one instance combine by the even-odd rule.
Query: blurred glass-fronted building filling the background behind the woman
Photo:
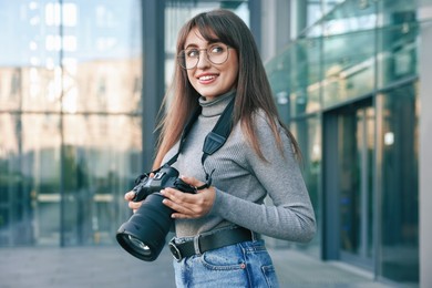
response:
[[[426,0],[0,0],[0,247],[116,245],[177,31],[215,8],[251,29],[302,150],[317,237],[269,245],[425,284]]]

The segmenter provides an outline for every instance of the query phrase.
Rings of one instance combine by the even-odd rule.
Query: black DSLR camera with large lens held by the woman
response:
[[[178,171],[165,164],[151,177],[143,174],[135,179],[134,202],[144,200],[132,217],[116,233],[119,244],[131,255],[144,261],[153,261],[161,254],[166,235],[173,225],[173,209],[165,206],[163,188],[176,188],[195,193],[196,188],[178,178]]]

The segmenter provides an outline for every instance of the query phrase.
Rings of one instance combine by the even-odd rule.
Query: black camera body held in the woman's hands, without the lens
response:
[[[176,188],[185,193],[196,192],[195,187],[178,178],[178,171],[176,168],[165,164],[158,172],[156,172],[154,177],[150,177],[148,174],[143,174],[135,179],[135,187],[132,189],[135,193],[133,200],[143,200],[150,194],[160,192],[167,187]]]

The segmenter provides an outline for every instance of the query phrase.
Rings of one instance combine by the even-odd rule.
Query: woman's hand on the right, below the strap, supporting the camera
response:
[[[204,185],[203,182],[194,177],[182,176],[181,178],[195,187]],[[161,191],[161,194],[165,196],[163,204],[175,210],[175,213],[172,214],[172,217],[178,219],[203,217],[212,209],[216,198],[216,191],[214,187],[198,191],[196,194],[183,193],[174,188],[164,188]]]

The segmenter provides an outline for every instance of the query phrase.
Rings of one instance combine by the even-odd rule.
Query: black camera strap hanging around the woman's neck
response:
[[[208,174],[205,171],[204,162],[208,155],[212,155],[216,151],[218,151],[222,146],[224,146],[225,142],[227,141],[227,138],[232,132],[232,128],[233,128],[234,102],[235,102],[235,97],[233,97],[229,101],[228,105],[225,107],[220,117],[216,122],[216,125],[213,127],[212,132],[209,132],[204,140],[203,156],[200,158],[200,163],[203,165],[204,172],[206,173],[207,183],[200,187],[197,187],[197,189],[204,189],[204,188],[207,188],[212,185],[212,174],[214,171],[212,171],[210,174]],[[189,117],[185,127],[183,128],[177,153],[171,160],[168,160],[164,165],[171,166],[172,164],[174,164],[177,161],[177,157],[178,157],[179,153],[182,152],[182,148],[183,148],[184,143],[186,141],[186,136],[191,132],[192,126],[194,125],[194,123],[198,119],[200,112],[202,112],[202,107],[199,106],[195,110],[194,114]],[[153,173],[155,173],[160,169],[161,168],[154,171]]]

